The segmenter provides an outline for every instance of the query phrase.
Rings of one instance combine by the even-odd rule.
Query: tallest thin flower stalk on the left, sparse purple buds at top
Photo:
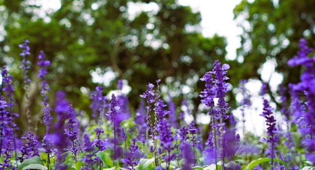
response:
[[[28,76],[29,69],[31,68],[31,62],[26,58],[31,54],[29,44],[30,41],[26,39],[23,44],[20,44],[18,47],[23,49],[23,51],[20,53],[20,56],[22,56],[22,64],[20,68],[23,70],[23,79],[24,79],[24,89],[25,89],[25,97],[26,97],[26,118],[29,126],[29,130],[32,129],[31,127],[31,112],[30,112],[30,99],[28,95],[28,91],[30,89],[30,83],[31,79]]]

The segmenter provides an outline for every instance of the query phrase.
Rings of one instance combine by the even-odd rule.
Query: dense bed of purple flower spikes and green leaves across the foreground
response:
[[[31,54],[28,43],[26,40],[20,45],[23,49],[20,55],[23,57],[21,68],[26,85],[26,114],[30,113],[27,93],[31,81],[28,78],[30,62],[26,58]],[[268,101],[263,97],[261,116],[266,121],[268,135],[263,141],[269,144],[265,153],[262,151],[265,151],[263,147],[266,144],[253,141],[256,136],[247,133],[245,129],[245,109],[252,108],[253,95],[246,87],[248,82],[240,81],[239,87],[227,83],[227,70],[230,68],[227,64],[214,61],[212,71],[206,72],[200,79],[205,82],[205,89],[200,93],[201,105],[194,105],[197,102],[194,100],[196,92],[192,95],[193,99],[186,96],[177,98],[177,93],[167,91],[167,85],[162,85],[160,93],[161,80],[157,80],[156,86],[151,83],[146,86],[147,89],[140,95],[144,100],[136,110],[130,107],[130,99],[123,90],[127,81],[120,79],[117,82],[118,90],[110,92],[111,98],[105,94],[108,89],[96,86],[90,96],[91,112],[82,109],[77,113],[63,91],[56,93],[55,101],[53,97],[49,98],[54,109],[49,107],[50,89],[46,76],[50,62],[45,59],[44,52],[40,51],[37,64],[40,67],[38,77],[44,104],[44,107],[41,106],[44,110],[42,124],[46,125],[46,136],[41,134],[42,130],[38,128],[40,126],[33,123],[34,131],[23,135],[22,140],[17,137],[20,131],[24,131],[17,129],[15,124],[18,116],[15,111],[19,110],[16,101],[19,103],[20,100],[15,99],[13,77],[4,67],[1,73],[3,96],[0,96],[0,170],[16,170],[18,166],[22,169],[46,169],[42,167],[46,166],[48,170],[67,170],[74,169],[73,167],[80,170],[240,170],[241,165],[244,167],[242,169],[250,169],[252,165],[266,160],[271,160],[271,169],[274,170],[298,170],[301,168],[298,162],[304,161],[305,157],[309,160],[306,163],[315,164],[315,56],[310,56],[313,55],[313,49],[307,46],[305,39],[300,40],[299,47],[298,55],[288,61],[290,66],[304,67],[300,82],[288,85],[292,99],[286,94],[287,87],[284,85],[279,89],[279,95],[274,94],[272,88],[268,89],[268,84],[262,85],[261,95],[275,99]],[[242,97],[238,100],[239,107],[231,113],[228,99],[232,95],[226,97],[230,88],[234,88],[236,98],[237,95]],[[265,95],[268,90],[272,96]],[[279,101],[281,103],[277,104],[281,107],[278,110],[284,117],[285,124],[276,121],[270,106],[272,102]],[[132,101],[132,105],[137,102]],[[206,108],[201,109],[200,106]],[[237,117],[235,112],[239,110],[241,112]],[[205,111],[207,117],[199,117]],[[210,124],[204,124],[205,118]],[[243,125],[243,133],[239,133],[239,124]],[[295,131],[296,125],[302,137],[301,145],[294,143],[300,137]],[[41,143],[37,141],[39,138]],[[297,150],[299,146],[302,147]],[[306,153],[303,153],[304,150]],[[269,158],[250,163],[252,157],[265,157],[266,154]],[[25,168],[30,162],[36,163]],[[194,166],[196,167],[193,168]],[[268,169],[270,164],[260,166],[253,170]]]

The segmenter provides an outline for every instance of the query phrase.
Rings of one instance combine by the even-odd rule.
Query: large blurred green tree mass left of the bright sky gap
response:
[[[139,11],[135,16],[128,12],[131,6]],[[148,10],[149,6],[154,9]],[[189,86],[193,95],[188,98],[198,105],[197,92],[204,86],[197,85],[198,79],[211,69],[214,59],[226,62],[225,39],[218,35],[204,37],[200,13],[176,0],[61,0],[57,11],[44,12],[36,1],[0,0],[0,14],[5,30],[0,63],[11,68],[18,80],[16,86],[22,82],[18,44],[26,38],[31,41],[34,122],[42,117],[36,78],[40,50],[52,61],[50,103],[55,92],[62,89],[75,107],[88,113],[87,96],[97,85],[91,78],[94,70],[100,74],[112,70],[117,79],[126,79],[132,87],[128,98],[135,107],[145,85],[158,78],[169,80],[167,84],[179,89]],[[116,88],[116,83],[98,83],[109,84],[106,92]],[[22,103],[24,92],[20,90],[16,88],[17,102]],[[179,104],[181,99],[175,102]],[[21,121],[25,118],[23,108],[19,112]]]

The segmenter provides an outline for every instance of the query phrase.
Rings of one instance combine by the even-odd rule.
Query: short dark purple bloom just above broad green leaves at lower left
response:
[[[28,141],[19,148],[19,151],[21,152],[21,156],[18,156],[17,160],[19,160],[22,163],[24,159],[26,158],[39,156],[38,144],[37,144],[38,141],[34,139],[34,134],[32,132],[29,132],[28,135],[24,135],[21,138],[27,139]]]

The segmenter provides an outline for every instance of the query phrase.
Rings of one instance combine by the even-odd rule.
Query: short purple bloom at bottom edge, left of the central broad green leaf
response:
[[[135,170],[134,166],[139,164],[139,160],[137,160],[139,157],[139,149],[136,141],[136,138],[132,139],[132,144],[129,146],[129,152],[126,153],[125,158],[121,159],[121,161],[127,165],[128,170]]]

